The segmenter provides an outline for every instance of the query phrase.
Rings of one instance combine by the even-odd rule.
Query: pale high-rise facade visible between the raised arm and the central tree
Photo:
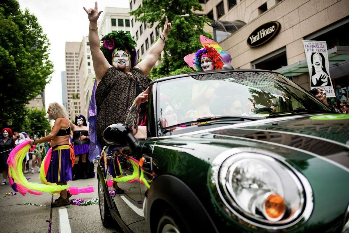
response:
[[[142,4],[141,0],[129,0],[128,2],[131,10],[136,10]],[[158,36],[161,35],[162,25],[157,22],[154,23],[152,28],[148,28],[146,23],[136,21],[133,15],[130,16],[130,21],[131,35],[137,39],[137,57],[138,59],[144,59],[151,46],[157,41]],[[161,56],[163,56],[163,52]],[[159,62],[158,60],[155,65],[158,65]]]

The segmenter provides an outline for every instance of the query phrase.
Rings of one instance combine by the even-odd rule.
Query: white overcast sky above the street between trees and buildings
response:
[[[89,21],[82,7],[92,8],[95,6],[95,1],[18,0],[18,2],[22,10],[28,8],[30,13],[36,15],[51,44],[50,60],[54,65],[54,73],[51,82],[45,88],[46,109],[52,102],[62,104],[61,71],[65,71],[65,42],[80,42],[83,36],[88,36]],[[128,1],[98,1],[98,10],[104,10],[105,7],[128,7]]]

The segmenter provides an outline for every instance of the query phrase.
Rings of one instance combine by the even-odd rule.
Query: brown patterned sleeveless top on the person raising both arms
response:
[[[96,105],[98,117],[96,122],[97,139],[101,145],[106,145],[103,140],[103,131],[111,124],[126,121],[128,109],[131,107],[138,90],[146,90],[151,79],[146,77],[139,68],[132,67],[127,74],[110,67],[104,74],[96,88]]]

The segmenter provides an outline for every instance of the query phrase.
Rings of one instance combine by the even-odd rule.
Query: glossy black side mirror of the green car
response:
[[[113,146],[128,145],[133,151],[141,149],[139,141],[125,124],[109,125],[103,131],[103,139],[106,143]]]

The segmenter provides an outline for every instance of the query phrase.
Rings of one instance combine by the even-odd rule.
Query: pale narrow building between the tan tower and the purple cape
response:
[[[96,74],[93,68],[88,36],[82,38],[79,50],[79,77],[80,77],[80,99],[81,114],[88,117],[88,108],[91,99],[92,88],[95,82]]]

